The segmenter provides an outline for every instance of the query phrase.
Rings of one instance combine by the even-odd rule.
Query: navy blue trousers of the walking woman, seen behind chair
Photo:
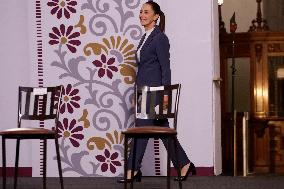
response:
[[[143,127],[143,126],[147,126],[147,125],[155,125],[155,126],[161,126],[161,127],[169,127],[169,122],[167,119],[163,119],[163,120],[152,120],[152,119],[137,119],[136,120],[136,127]],[[130,150],[130,154],[129,154],[129,158],[127,161],[127,166],[128,166],[128,170],[132,169],[135,171],[138,171],[141,168],[141,162],[147,147],[147,143],[148,143],[149,138],[138,138],[136,139],[136,154],[135,154],[135,160],[134,160],[134,168],[132,168],[132,159],[133,159],[133,141],[131,143],[131,150]],[[164,146],[166,147],[166,149],[168,148],[168,139],[162,139]],[[176,149],[175,149],[176,148]],[[171,157],[170,159],[173,162],[173,165],[177,168],[178,167],[178,162],[176,160],[176,156],[175,156],[175,150],[177,150],[178,153],[178,159],[180,162],[180,166],[183,167],[184,165],[190,163],[190,160],[188,159],[184,149],[182,148],[182,146],[180,145],[179,141],[177,141],[176,146],[174,147],[173,145],[173,141],[170,141],[169,143],[169,149],[170,150],[170,154]]]

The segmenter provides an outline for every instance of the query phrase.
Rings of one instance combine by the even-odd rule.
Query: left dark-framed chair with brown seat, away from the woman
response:
[[[6,139],[16,139],[16,159],[14,173],[14,189],[17,188],[19,148],[23,139],[41,139],[43,141],[43,188],[46,188],[46,152],[47,139],[55,140],[58,171],[61,189],[63,189],[62,168],[58,144],[58,117],[63,86],[32,88],[19,87],[18,99],[18,127],[0,131],[2,136],[3,155],[3,189],[6,188]],[[47,128],[21,127],[24,120],[44,121],[53,119],[54,125]],[[53,122],[53,121],[52,121]]]

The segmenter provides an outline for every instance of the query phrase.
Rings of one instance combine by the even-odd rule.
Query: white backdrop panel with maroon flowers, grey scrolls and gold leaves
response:
[[[35,77],[45,86],[64,85],[59,125],[64,176],[123,173],[121,130],[133,126],[135,51],[144,32],[138,14],[144,2],[31,3],[33,29],[38,31],[34,36],[38,57],[38,66],[33,66]],[[51,152],[53,144],[49,146]],[[48,175],[54,176],[55,157],[48,159]],[[38,166],[33,162],[33,167]]]

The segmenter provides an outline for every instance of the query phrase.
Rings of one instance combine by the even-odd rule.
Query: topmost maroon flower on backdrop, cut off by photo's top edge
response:
[[[77,2],[75,0],[51,0],[47,5],[52,7],[50,13],[52,15],[57,14],[58,19],[62,17],[62,14],[69,19],[70,13],[76,13],[74,7],[77,5]]]

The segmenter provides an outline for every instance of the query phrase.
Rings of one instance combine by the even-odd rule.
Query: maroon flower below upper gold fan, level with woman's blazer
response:
[[[101,61],[95,60],[93,61],[93,64],[99,68],[98,71],[98,76],[100,78],[104,77],[105,73],[108,78],[112,79],[113,73],[112,72],[117,72],[118,68],[113,66],[112,64],[115,62],[115,58],[110,58],[106,59],[106,55],[102,54],[101,55]]]

